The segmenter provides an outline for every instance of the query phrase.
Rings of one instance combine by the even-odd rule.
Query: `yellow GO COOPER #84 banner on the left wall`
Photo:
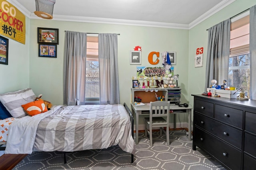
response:
[[[25,44],[25,15],[6,0],[0,0],[0,3],[0,34]]]

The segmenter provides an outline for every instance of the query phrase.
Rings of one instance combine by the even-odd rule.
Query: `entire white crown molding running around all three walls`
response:
[[[7,0],[12,3],[16,8],[20,10],[25,16],[30,19],[43,20],[42,18],[36,16],[34,13],[28,11],[18,0]],[[196,20],[189,24],[178,24],[178,23],[164,23],[164,22],[151,22],[151,21],[137,21],[137,20],[120,20],[111,18],[94,18],[94,17],[80,17],[80,16],[64,16],[64,15],[53,15],[55,21],[72,21],[72,22],[85,22],[85,23],[104,23],[104,24],[117,24],[117,25],[133,25],[133,26],[145,26],[145,27],[163,27],[163,28],[173,28],[173,29],[191,29],[192,27],[198,25],[202,21],[206,20],[210,16],[216,14],[226,6],[232,4],[236,0],[223,0],[212,9],[204,13],[202,16],[198,17]]]

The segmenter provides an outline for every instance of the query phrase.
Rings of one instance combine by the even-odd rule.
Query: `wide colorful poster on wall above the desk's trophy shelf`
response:
[[[172,70],[171,74],[173,74],[174,67],[172,66],[170,69]],[[137,66],[137,80],[148,78],[166,79],[168,77],[168,74],[170,74],[170,71],[166,70],[162,66]]]

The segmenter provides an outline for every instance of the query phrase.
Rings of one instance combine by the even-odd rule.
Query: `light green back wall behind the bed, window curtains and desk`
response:
[[[57,58],[38,57],[37,27],[59,29]],[[97,23],[79,23],[52,20],[30,20],[30,86],[34,92],[53,104],[63,102],[63,53],[65,30],[87,33],[120,33],[118,35],[118,74],[120,103],[130,105],[132,76],[136,66],[130,65],[130,51],[142,47],[142,66],[150,66],[148,54],[151,51],[176,51],[174,72],[180,75],[179,82],[184,89],[183,100],[188,88],[188,30]],[[33,36],[32,36],[33,35]],[[162,66],[162,58],[158,66]]]

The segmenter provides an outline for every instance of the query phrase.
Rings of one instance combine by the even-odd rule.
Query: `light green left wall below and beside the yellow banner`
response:
[[[30,20],[26,17],[25,45],[8,38],[8,65],[0,64],[0,94],[30,87],[29,25]]]

